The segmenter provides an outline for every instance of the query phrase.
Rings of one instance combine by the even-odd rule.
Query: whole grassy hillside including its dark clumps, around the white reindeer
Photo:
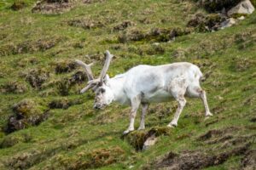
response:
[[[32,13],[36,1],[24,2],[19,10],[0,2],[0,169],[154,169],[177,156],[205,169],[255,166],[256,13],[200,32],[187,27],[207,14],[193,1],[77,0],[61,14]],[[199,65],[214,116],[205,119],[201,100],[187,99],[178,126],[138,151],[139,137],[165,129],[177,103],[150,105],[146,130],[122,138],[129,107],[94,111],[94,94],[79,94],[86,77],[73,63],[94,62],[98,75],[106,49],[115,55],[110,77],[139,64]],[[18,127],[8,125],[10,116]]]

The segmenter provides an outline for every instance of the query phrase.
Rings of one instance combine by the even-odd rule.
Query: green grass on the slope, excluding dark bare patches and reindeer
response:
[[[0,87],[17,80],[27,89],[22,94],[0,94],[0,144],[3,141],[10,144],[9,147],[0,148],[1,169],[18,169],[19,166],[31,169],[79,168],[96,150],[110,150],[111,155],[116,147],[122,150],[120,156],[111,155],[113,157],[110,156],[112,160],[108,162],[109,165],[106,163],[99,168],[127,169],[133,166],[133,169],[141,169],[170,151],[180,153],[183,150],[218,149],[221,144],[198,141],[199,136],[212,129],[241,127],[231,132],[231,135],[255,134],[255,122],[250,122],[256,117],[255,13],[237,26],[222,31],[193,32],[177,37],[174,42],[160,42],[164,52],[159,54],[156,50],[148,52],[154,48],[154,40],[119,43],[118,37],[123,31],[113,31],[113,27],[123,20],[131,20],[136,25],[128,27],[126,31],[137,29],[148,32],[156,27],[185,28],[193,14],[202,11],[201,8],[194,3],[177,0],[110,0],[103,3],[78,3],[63,14],[36,14],[31,12],[36,1],[27,0],[26,8],[19,11],[9,8],[13,2],[0,3]],[[83,18],[101,22],[104,26],[83,29],[67,24],[70,20]],[[148,20],[148,23],[142,20]],[[54,42],[53,47],[44,49],[44,45],[49,42]],[[38,44],[44,47],[38,48]],[[17,47],[23,50],[20,52]],[[56,63],[73,59],[83,59],[88,63],[93,61],[96,63],[93,71],[98,75],[103,60],[102,52],[106,49],[115,55],[108,71],[110,77],[139,64],[161,65],[189,61],[200,65],[201,71],[209,75],[201,85],[207,90],[214,116],[205,120],[200,99],[188,99],[178,127],[172,129],[171,135],[160,136],[153,147],[137,152],[125,139],[121,139],[122,132],[128,126],[129,107],[112,104],[104,111],[92,110],[94,94],[78,93],[85,82],[70,87],[67,96],[62,96],[58,90],[61,80],[71,78],[82,69],[55,74]],[[32,88],[26,82],[24,75],[31,69],[49,71],[49,78],[41,88]],[[29,126],[15,133],[3,133],[9,116],[14,114],[13,105],[20,100],[32,99],[40,108],[47,108],[54,99],[63,98],[82,102],[66,110],[50,109],[49,118],[38,126]],[[166,127],[172,120],[175,105],[174,101],[150,105],[147,129]],[[172,108],[170,113],[166,111],[167,107]],[[140,113],[137,114],[136,127],[139,116]],[[251,148],[255,149],[255,144]],[[207,169],[239,169],[241,158],[232,156],[223,164]]]

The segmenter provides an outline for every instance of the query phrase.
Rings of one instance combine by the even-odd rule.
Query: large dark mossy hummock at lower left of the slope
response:
[[[29,126],[36,126],[46,120],[49,111],[32,99],[23,99],[13,106],[14,115],[9,116],[5,133],[12,133]]]

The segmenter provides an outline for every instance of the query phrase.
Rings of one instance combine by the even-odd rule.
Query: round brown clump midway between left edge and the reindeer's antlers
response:
[[[44,69],[32,69],[26,73],[26,82],[29,82],[32,88],[41,88],[43,83],[49,79],[49,71]]]

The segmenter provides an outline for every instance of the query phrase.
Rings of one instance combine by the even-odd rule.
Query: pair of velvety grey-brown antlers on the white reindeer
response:
[[[88,80],[89,80],[88,83],[87,83],[87,86],[80,91],[81,94],[84,94],[84,92],[86,92],[90,88],[94,88],[99,82],[103,82],[103,79],[107,74],[107,71],[108,71],[108,68],[109,68],[109,65],[110,65],[110,61],[113,58],[113,54],[110,54],[109,51],[107,50],[105,52],[105,56],[106,56],[106,61],[105,61],[105,64],[103,66],[102,72],[100,74],[100,77],[96,78],[96,79],[93,77],[92,71],[90,69],[90,66],[93,65],[93,63],[91,63],[90,65],[86,65],[83,61],[81,61],[79,59],[75,60],[77,64],[84,67],[86,75],[87,75]]]

